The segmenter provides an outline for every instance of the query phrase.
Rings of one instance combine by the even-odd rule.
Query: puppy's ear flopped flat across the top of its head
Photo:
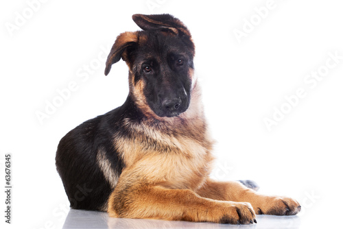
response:
[[[191,33],[187,27],[174,16],[170,14],[134,14],[132,15],[133,21],[143,30],[160,29],[163,31],[173,32],[177,35],[185,35],[189,38]]]

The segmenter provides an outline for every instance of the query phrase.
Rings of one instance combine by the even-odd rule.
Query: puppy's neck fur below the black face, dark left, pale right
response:
[[[158,117],[147,115],[129,95],[126,103],[122,106],[121,125],[132,138],[132,133],[141,133],[140,139],[132,138],[132,141],[154,142],[169,139],[188,139],[205,147],[212,149],[213,139],[207,128],[206,119],[201,100],[200,85],[195,82],[191,90],[191,102],[189,108],[177,117]],[[145,108],[146,109],[146,108]],[[120,111],[119,111],[120,112]],[[169,136],[169,137],[167,137]],[[180,142],[176,143],[178,145]],[[184,141],[182,141],[184,143]],[[174,143],[173,143],[174,144]]]

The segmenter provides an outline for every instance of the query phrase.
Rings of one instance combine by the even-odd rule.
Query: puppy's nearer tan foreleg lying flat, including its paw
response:
[[[118,188],[118,189],[117,189]],[[108,201],[111,217],[211,221],[228,224],[256,222],[249,203],[210,200],[189,189],[137,184],[117,186]]]

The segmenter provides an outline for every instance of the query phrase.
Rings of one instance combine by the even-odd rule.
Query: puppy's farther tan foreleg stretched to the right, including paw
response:
[[[213,200],[249,202],[257,214],[296,215],[301,209],[292,198],[262,195],[237,181],[215,182],[208,179],[197,193]]]

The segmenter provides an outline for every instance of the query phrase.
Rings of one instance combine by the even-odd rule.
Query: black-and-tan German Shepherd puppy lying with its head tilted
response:
[[[58,145],[56,167],[71,208],[223,224],[254,224],[257,214],[296,215],[301,207],[292,198],[262,195],[251,182],[209,178],[214,142],[189,29],[170,14],[132,19],[143,30],[117,36],[105,69],[108,75],[121,59],[128,65],[126,101]]]

